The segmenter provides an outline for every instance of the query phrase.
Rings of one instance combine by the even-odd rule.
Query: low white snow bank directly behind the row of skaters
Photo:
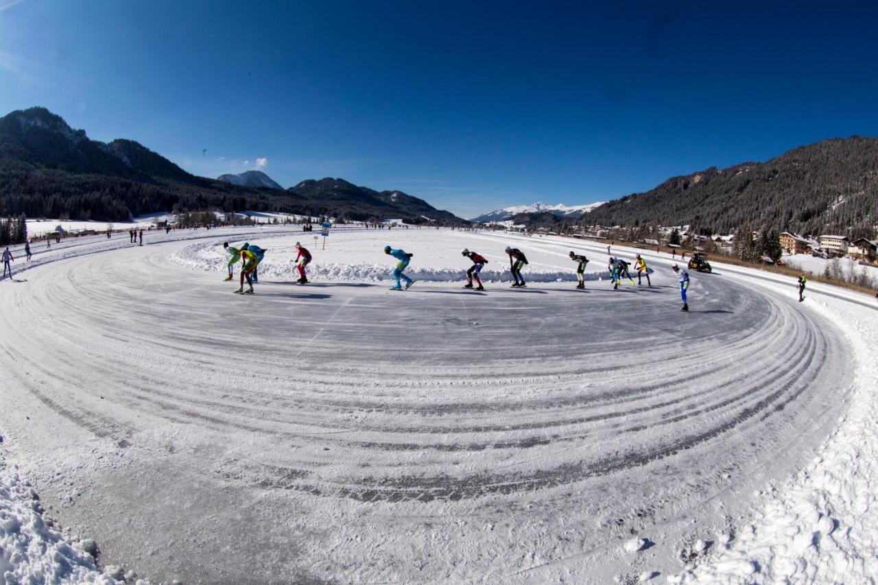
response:
[[[422,230],[427,235],[426,230]],[[381,246],[376,245],[372,249],[350,249],[345,246],[342,238],[333,240],[335,234],[330,236],[331,242],[328,249],[323,250],[311,246],[311,242],[304,242],[310,247],[313,254],[313,262],[307,267],[308,278],[313,280],[332,280],[341,282],[379,282],[392,279],[392,270],[396,260],[386,256]],[[296,280],[299,272],[296,270],[296,249],[293,247],[295,238],[289,236],[263,239],[258,243],[262,248],[268,249],[263,262],[259,264],[259,277],[261,279]],[[241,246],[243,242],[229,242],[232,246]],[[448,249],[419,249],[413,242],[414,248],[402,244],[406,251],[412,251],[414,257],[406,274],[410,278],[429,282],[460,282],[466,278],[466,270],[472,265],[460,254],[460,248],[450,242]],[[532,253],[526,250],[530,264],[525,266],[522,274],[529,282],[575,282],[576,264],[570,262],[564,255],[560,258],[545,258],[544,253]],[[512,275],[509,272],[509,263],[502,249],[494,255],[488,256],[488,264],[481,271],[481,278],[488,282],[511,282]],[[194,271],[225,273],[229,255],[222,247],[221,242],[200,242],[180,249],[174,255],[169,256],[172,264],[184,266]],[[564,264],[561,264],[564,263]],[[560,264],[560,265],[559,265]],[[567,264],[567,265],[565,265]],[[235,267],[235,273],[240,270],[241,264]],[[587,271],[586,280],[608,280],[609,273],[604,259],[588,264],[594,271]]]

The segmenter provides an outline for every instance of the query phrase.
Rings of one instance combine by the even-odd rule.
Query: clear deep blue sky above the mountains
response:
[[[657,4],[0,0],[0,113],[465,217],[878,134],[878,10]]]

